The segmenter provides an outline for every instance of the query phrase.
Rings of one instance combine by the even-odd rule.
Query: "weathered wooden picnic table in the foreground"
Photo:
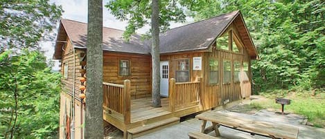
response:
[[[216,136],[220,136],[220,125],[270,138],[297,139],[299,132],[297,127],[287,124],[243,118],[234,113],[207,111],[196,115],[195,118],[202,120],[201,133],[215,131]],[[212,126],[206,128],[208,121],[212,122]]]

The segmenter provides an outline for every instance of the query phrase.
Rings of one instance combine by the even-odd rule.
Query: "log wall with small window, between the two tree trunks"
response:
[[[122,76],[119,74],[120,60],[130,62],[130,75]],[[131,81],[132,98],[150,97],[151,56],[104,51],[103,82],[123,84],[124,80]]]

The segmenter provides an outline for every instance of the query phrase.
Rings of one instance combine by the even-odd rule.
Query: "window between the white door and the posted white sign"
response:
[[[190,68],[188,66],[188,59],[176,60],[176,82],[190,81]]]

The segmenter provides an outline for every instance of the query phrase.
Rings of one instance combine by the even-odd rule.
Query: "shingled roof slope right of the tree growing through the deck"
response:
[[[160,35],[160,53],[205,50],[229,26],[238,11],[180,26]]]

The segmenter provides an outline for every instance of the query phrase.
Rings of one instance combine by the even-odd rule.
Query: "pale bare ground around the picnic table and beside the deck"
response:
[[[251,100],[254,101],[263,101],[263,97],[260,96],[252,96]],[[299,139],[316,139],[316,138],[325,138],[325,129],[310,127],[306,125],[307,120],[306,117],[302,115],[296,115],[292,113],[287,113],[286,115],[281,115],[280,113],[276,113],[274,109],[252,109],[249,107],[250,101],[244,101],[241,104],[231,107],[227,110],[222,110],[222,113],[234,113],[236,115],[243,116],[245,118],[254,118],[256,120],[264,120],[268,122],[277,122],[283,124],[290,124],[292,126],[299,128]],[[159,131],[155,131],[153,133],[146,134],[144,136],[139,137],[138,139],[165,139],[165,138],[175,138],[182,139],[188,138],[187,133],[190,131],[200,131],[201,121],[195,118],[186,118],[183,122],[179,124],[173,125],[171,127],[167,127],[165,129],[161,129]],[[213,134],[213,132],[211,133]],[[220,134],[223,138],[231,138],[231,139],[248,139],[248,138],[256,138],[256,139],[264,139],[266,137],[263,136],[252,136],[249,133],[245,133],[242,131],[237,131],[234,129],[229,129],[227,127],[220,127]],[[123,138],[123,133],[116,129],[113,126],[107,126],[105,128],[105,139],[119,139]]]

